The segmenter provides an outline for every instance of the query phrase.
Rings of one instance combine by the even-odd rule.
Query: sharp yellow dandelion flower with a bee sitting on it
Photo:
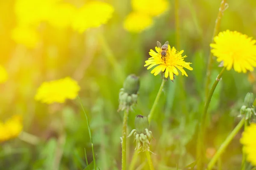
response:
[[[192,67],[189,65],[192,64],[191,62],[185,62],[184,58],[187,57],[186,55],[182,57],[183,50],[178,52],[174,47],[170,47],[168,45],[168,49],[166,51],[166,57],[162,57],[161,55],[161,48],[155,47],[156,51],[150,50],[149,55],[151,56],[148,58],[148,60],[145,61],[144,67],[148,66],[147,69],[150,69],[154,66],[156,66],[152,71],[151,74],[154,74],[156,76],[160,72],[164,73],[164,77],[168,77],[173,80],[174,75],[178,76],[180,70],[182,75],[188,76],[186,74],[186,71],[183,68],[186,68],[188,70],[193,70]]]

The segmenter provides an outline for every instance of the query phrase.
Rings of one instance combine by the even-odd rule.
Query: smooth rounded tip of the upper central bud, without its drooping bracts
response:
[[[135,74],[130,74],[124,82],[124,92],[131,94],[137,94],[140,88],[140,78]]]

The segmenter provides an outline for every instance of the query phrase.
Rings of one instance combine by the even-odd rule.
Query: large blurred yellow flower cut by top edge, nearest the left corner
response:
[[[53,6],[60,0],[16,0],[15,14],[20,25],[38,25],[51,15]]]

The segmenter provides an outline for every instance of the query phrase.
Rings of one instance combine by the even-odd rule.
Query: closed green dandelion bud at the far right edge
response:
[[[244,116],[246,120],[250,120],[253,115],[256,115],[254,111],[254,96],[253,93],[247,93],[244,97],[244,105],[240,109],[239,117]]]

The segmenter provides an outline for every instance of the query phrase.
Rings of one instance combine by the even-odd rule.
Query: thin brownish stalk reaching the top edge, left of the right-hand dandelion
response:
[[[221,6],[219,8],[218,16],[216,18],[215,26],[214,26],[214,30],[213,30],[212,43],[214,42],[213,38],[216,35],[218,35],[219,28],[220,28],[220,25],[221,25],[221,18],[222,18],[223,12],[227,8],[226,3],[227,3],[227,0],[221,0]],[[212,53],[210,52],[209,57],[208,57],[208,65],[207,65],[207,72],[206,72],[207,78],[206,78],[206,85],[205,85],[205,97],[207,97],[207,95],[209,93],[209,85],[210,85],[210,81],[211,81],[211,71],[212,71],[212,62],[213,62],[213,56],[212,56]]]

